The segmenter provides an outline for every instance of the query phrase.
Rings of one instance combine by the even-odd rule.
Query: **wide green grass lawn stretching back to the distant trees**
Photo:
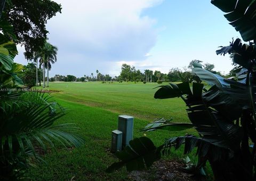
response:
[[[148,122],[158,118],[173,118],[173,121],[188,122],[186,106],[179,98],[154,99],[156,83],[51,83],[54,100],[65,108],[68,114],[58,124],[73,122],[79,128],[79,135],[85,138],[85,145],[79,148],[57,148],[44,156],[46,163],[30,168],[28,175],[33,180],[120,180],[127,179],[125,169],[106,174],[105,169],[117,161],[110,153],[111,131],[117,129],[118,115],[134,117],[134,137],[143,136],[139,131]],[[197,135],[194,129],[185,131],[153,131],[147,136],[156,145],[165,138]],[[183,150],[173,151],[172,158],[185,158]],[[194,161],[194,154],[190,155]],[[210,171],[209,171],[210,172]]]

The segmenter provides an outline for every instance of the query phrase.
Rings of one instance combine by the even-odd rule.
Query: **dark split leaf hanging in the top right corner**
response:
[[[227,13],[225,18],[245,42],[256,39],[255,0],[212,0],[211,3]]]

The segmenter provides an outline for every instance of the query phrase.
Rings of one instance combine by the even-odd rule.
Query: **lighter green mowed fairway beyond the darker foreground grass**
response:
[[[52,83],[50,88],[61,92],[53,93],[61,100],[102,108],[119,114],[153,121],[158,118],[173,118],[187,122],[185,103],[180,98],[157,100],[156,83]],[[155,88],[155,89],[154,89]]]

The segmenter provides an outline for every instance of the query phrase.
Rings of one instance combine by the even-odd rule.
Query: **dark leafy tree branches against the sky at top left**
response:
[[[8,0],[5,3],[2,21],[13,27],[14,42],[25,46],[27,59],[34,58],[47,39],[47,20],[61,12],[61,5],[51,0]],[[0,30],[4,30],[1,27]],[[12,34],[9,34],[9,36]]]

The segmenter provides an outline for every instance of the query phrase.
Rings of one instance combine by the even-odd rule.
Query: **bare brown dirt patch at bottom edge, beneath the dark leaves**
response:
[[[181,181],[205,181],[205,177],[194,176],[184,172],[181,167],[184,164],[179,160],[159,160],[156,161],[149,170],[132,171],[128,175],[129,179],[136,181],[146,180],[181,180]]]

